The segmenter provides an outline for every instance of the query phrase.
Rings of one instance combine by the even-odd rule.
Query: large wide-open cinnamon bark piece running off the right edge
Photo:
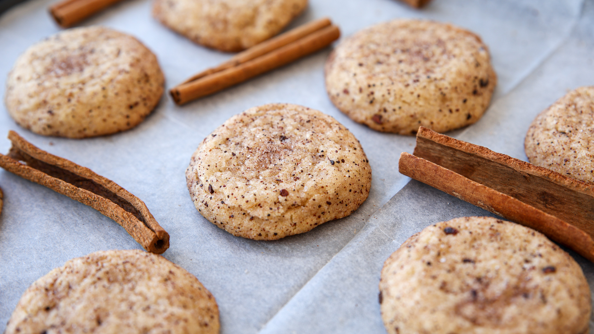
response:
[[[419,128],[399,169],[489,212],[541,231],[594,262],[594,187],[549,169]]]

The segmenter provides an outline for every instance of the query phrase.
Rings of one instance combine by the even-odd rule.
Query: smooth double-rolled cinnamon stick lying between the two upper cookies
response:
[[[194,75],[169,92],[175,103],[182,105],[289,64],[325,48],[340,37],[340,29],[326,25],[329,22],[322,19],[287,31],[273,40],[239,53],[219,67]]]

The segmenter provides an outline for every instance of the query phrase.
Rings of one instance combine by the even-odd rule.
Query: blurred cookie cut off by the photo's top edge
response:
[[[195,43],[236,52],[276,35],[307,0],[155,0],[153,16]]]

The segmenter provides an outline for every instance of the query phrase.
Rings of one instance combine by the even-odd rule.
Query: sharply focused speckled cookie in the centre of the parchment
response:
[[[276,240],[350,215],[369,194],[371,167],[336,119],[273,103],[214,130],[186,179],[204,218],[238,237]]]

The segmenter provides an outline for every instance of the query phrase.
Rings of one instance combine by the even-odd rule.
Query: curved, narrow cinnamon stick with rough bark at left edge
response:
[[[89,168],[33,146],[14,131],[8,138],[12,147],[8,155],[0,154],[0,167],[93,207],[122,225],[151,253],[169,248],[169,234],[140,198]]]

